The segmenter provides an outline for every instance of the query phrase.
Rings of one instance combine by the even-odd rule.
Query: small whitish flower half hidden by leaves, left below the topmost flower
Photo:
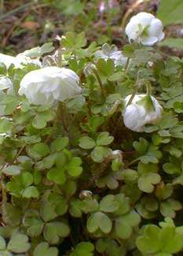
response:
[[[96,60],[100,58],[103,58],[105,61],[112,59],[115,66],[126,65],[127,58],[123,56],[122,52],[115,45],[110,46],[108,43],[104,43],[101,50],[97,50],[94,56]]]

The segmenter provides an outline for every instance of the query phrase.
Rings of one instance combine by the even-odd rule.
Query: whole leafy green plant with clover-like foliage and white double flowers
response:
[[[0,54],[1,255],[182,255],[183,61],[126,35]]]

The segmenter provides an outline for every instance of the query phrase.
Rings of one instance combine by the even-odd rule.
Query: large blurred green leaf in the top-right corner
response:
[[[163,21],[163,25],[183,23],[181,10],[183,2],[181,0],[161,0],[157,17]]]

